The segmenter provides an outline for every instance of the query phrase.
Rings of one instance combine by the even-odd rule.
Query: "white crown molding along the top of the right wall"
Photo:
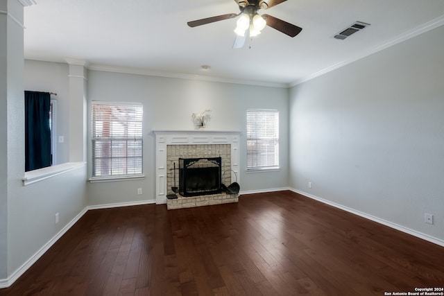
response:
[[[425,24],[417,26],[416,28],[413,28],[412,30],[409,30],[407,32],[404,32],[404,33],[398,35],[398,37],[396,37],[395,39],[393,39],[389,42],[386,42],[384,44],[380,44],[378,46],[370,48],[367,51],[363,51],[363,52],[359,53],[359,55],[354,55],[352,58],[349,58],[347,60],[343,60],[342,62],[339,62],[337,64],[333,64],[332,66],[322,69],[321,71],[317,71],[315,73],[312,73],[309,76],[295,80],[289,84],[289,87],[294,87],[296,85],[299,85],[302,82],[307,82],[308,80],[311,80],[313,78],[321,76],[321,75],[328,73],[330,71],[339,69],[347,64],[350,64],[350,63],[355,62],[357,60],[361,60],[362,58],[366,58],[368,55],[373,55],[373,53],[377,53],[378,51],[388,49],[388,47],[391,47],[395,44],[409,40],[410,38],[416,37],[422,33],[426,33],[427,31],[433,30],[434,28],[438,28],[439,26],[443,26],[443,25],[444,25],[444,15],[441,15],[441,17],[437,17],[436,19],[432,19],[432,21],[427,21],[427,23],[425,23]]]

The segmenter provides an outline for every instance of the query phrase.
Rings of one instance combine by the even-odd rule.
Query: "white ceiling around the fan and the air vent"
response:
[[[259,14],[302,27],[299,35],[266,27],[244,48],[232,49],[237,19],[195,28],[187,21],[237,13],[234,0],[36,2],[24,12],[26,59],[284,87],[444,24],[443,0],[288,0]],[[334,39],[355,21],[371,25]],[[210,71],[202,71],[203,64]]]

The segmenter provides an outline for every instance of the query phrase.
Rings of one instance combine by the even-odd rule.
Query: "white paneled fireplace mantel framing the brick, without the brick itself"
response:
[[[167,146],[230,144],[232,178],[239,182],[238,131],[222,130],[153,130],[155,134],[156,204],[167,203]],[[235,175],[234,175],[235,174]]]

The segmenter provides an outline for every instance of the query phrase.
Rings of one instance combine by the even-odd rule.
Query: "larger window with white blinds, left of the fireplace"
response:
[[[92,103],[92,177],[142,175],[142,104]]]

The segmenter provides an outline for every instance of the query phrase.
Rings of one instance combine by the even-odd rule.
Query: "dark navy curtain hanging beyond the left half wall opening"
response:
[[[51,166],[49,92],[25,91],[25,171]]]

